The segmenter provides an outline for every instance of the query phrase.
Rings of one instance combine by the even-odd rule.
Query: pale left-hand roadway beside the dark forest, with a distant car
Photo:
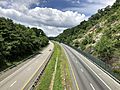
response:
[[[28,63],[2,80],[0,82],[0,90],[29,90],[30,85],[33,83],[31,80],[35,78],[34,76],[36,76],[38,71],[42,71],[42,67],[49,60],[53,48],[54,45],[50,42],[41,51],[41,54],[36,55]]]

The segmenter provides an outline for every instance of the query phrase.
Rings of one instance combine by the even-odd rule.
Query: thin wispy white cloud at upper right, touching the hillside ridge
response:
[[[85,0],[81,1],[79,0],[80,3],[76,7],[69,7],[69,8],[64,8],[63,10],[72,10],[72,11],[77,11],[80,13],[84,13],[85,15],[93,15],[95,14],[98,9],[105,8],[108,5],[113,5],[113,3],[116,0]]]

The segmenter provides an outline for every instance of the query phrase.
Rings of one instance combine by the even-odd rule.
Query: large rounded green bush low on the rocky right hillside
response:
[[[102,37],[97,43],[95,51],[98,53],[98,57],[100,59],[104,61],[111,60],[114,53],[113,41],[108,39],[106,36]]]

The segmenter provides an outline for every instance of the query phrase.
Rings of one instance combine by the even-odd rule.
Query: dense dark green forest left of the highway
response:
[[[47,44],[48,38],[41,29],[25,27],[0,17],[0,70]]]

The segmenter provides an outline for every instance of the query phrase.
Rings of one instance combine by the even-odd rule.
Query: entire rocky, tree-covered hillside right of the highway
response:
[[[92,54],[120,73],[120,0],[65,30],[55,40]]]

